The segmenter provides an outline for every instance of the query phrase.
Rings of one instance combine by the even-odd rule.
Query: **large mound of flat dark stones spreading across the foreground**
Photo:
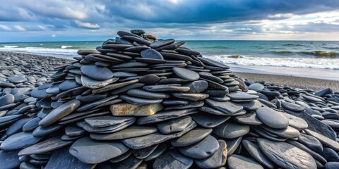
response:
[[[25,101],[1,86],[1,168],[339,168],[338,93],[251,83],[184,42],[117,34]]]

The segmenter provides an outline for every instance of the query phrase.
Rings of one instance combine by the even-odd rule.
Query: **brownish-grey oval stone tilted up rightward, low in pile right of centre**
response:
[[[196,127],[182,135],[182,137],[171,139],[171,144],[172,146],[189,146],[205,139],[211,132],[212,129]]]

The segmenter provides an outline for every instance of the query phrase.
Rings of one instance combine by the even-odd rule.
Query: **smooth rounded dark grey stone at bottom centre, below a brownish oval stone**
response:
[[[212,156],[218,149],[218,140],[215,139],[215,137],[208,135],[208,137],[201,140],[201,142],[182,147],[179,151],[190,158],[203,159]]]

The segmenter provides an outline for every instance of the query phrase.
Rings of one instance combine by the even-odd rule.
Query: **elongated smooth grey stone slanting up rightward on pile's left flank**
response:
[[[69,113],[72,113],[73,111],[80,106],[81,101],[78,100],[71,100],[66,102],[65,104],[62,104],[58,108],[55,108],[53,111],[49,112],[46,117],[44,117],[39,125],[40,126],[47,126],[51,125],[52,123],[56,122],[57,120],[64,118],[64,116],[69,115]]]

